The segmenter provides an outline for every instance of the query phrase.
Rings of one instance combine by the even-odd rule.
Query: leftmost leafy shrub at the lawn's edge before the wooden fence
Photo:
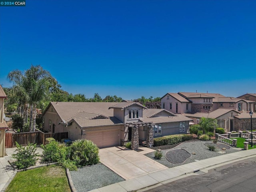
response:
[[[16,154],[12,154],[12,157],[14,158],[13,164],[18,169],[25,169],[30,166],[34,166],[36,164],[36,161],[38,160],[38,153],[36,153],[36,144],[28,144],[25,147],[22,147],[16,142],[17,151]]]

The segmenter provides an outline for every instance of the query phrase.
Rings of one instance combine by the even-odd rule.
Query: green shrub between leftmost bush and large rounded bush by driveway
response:
[[[50,138],[46,138],[50,139]],[[42,152],[42,161],[43,162],[57,162],[58,161],[58,152],[59,152],[59,143],[57,141],[52,140],[46,145],[41,145],[41,148],[44,150]]]

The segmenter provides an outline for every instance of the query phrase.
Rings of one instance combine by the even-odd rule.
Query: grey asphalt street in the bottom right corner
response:
[[[146,192],[256,192],[256,158],[191,175]]]

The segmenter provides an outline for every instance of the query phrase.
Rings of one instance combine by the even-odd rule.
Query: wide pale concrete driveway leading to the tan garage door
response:
[[[166,166],[144,156],[146,150],[149,149],[145,148],[141,152],[136,152],[122,146],[102,148],[99,151],[100,162],[125,180],[168,169]]]

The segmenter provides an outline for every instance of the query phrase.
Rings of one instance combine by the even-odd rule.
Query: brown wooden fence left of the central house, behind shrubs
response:
[[[26,146],[29,143],[45,144],[45,139],[49,137],[53,137],[56,141],[61,141],[64,138],[68,138],[68,132],[44,133],[38,130],[25,133],[6,133],[5,146],[6,148],[16,147],[16,142],[22,146]]]

